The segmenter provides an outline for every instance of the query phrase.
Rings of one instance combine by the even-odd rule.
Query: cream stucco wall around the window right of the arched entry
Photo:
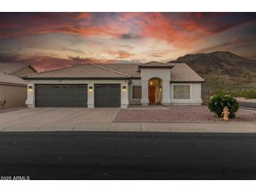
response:
[[[173,85],[189,85],[190,99],[174,99]],[[170,101],[171,104],[188,105],[188,104],[202,104],[201,99],[201,83],[170,83]]]

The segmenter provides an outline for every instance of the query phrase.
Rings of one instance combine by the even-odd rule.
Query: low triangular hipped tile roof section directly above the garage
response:
[[[79,64],[73,67],[29,74],[22,78],[130,78],[130,76],[96,64]]]

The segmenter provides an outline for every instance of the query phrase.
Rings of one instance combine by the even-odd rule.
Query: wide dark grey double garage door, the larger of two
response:
[[[36,85],[36,107],[87,107],[87,85]]]

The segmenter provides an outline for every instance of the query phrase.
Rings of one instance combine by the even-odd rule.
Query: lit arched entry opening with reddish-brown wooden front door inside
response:
[[[148,82],[149,104],[162,103],[162,80],[161,78],[150,78]]]

